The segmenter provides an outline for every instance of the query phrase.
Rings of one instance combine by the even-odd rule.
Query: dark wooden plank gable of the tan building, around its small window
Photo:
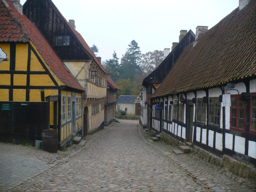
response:
[[[82,48],[80,40],[74,35],[67,21],[64,21],[64,17],[59,17],[61,13],[52,1],[27,0],[23,6],[23,13],[36,24],[63,61],[92,59],[92,56]],[[57,46],[57,36],[69,36],[70,44]]]

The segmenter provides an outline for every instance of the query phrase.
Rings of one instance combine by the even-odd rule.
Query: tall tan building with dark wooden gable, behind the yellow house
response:
[[[102,67],[80,33],[75,21],[66,19],[52,0],[27,0],[23,12],[34,22],[78,82],[82,95],[83,136],[104,128],[104,101],[109,73]],[[96,75],[92,74],[95,73]],[[81,131],[82,130],[82,131]]]

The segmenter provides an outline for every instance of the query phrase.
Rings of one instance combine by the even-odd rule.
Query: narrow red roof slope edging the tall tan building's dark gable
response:
[[[71,29],[71,31],[73,31],[74,36],[76,36],[76,38],[81,42],[83,48],[86,50],[86,53],[90,54],[93,59],[95,60],[95,62],[98,64],[98,66],[100,67],[100,69],[104,72],[109,74],[104,67],[102,66],[102,64],[99,62],[99,60],[97,59],[97,57],[94,55],[94,53],[92,52],[92,50],[90,49],[90,47],[88,46],[88,44],[85,42],[84,38],[81,36],[80,33],[78,33],[78,31],[76,31],[70,24],[69,22],[65,19],[65,17],[61,14],[61,12],[59,12],[59,9],[54,5],[54,3],[52,2],[52,0],[48,0],[50,2],[50,5],[57,10],[56,13],[59,15],[60,18],[62,18],[62,21],[64,21],[66,23],[66,26],[69,26],[69,28]]]

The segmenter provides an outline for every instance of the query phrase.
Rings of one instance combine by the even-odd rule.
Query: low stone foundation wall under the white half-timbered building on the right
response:
[[[154,133],[156,132],[151,130],[150,135],[154,135]],[[173,146],[186,145],[166,133],[162,134],[161,140],[164,140],[166,143]],[[231,171],[235,175],[239,175],[243,178],[256,179],[256,168],[253,165],[246,164],[226,154],[223,156],[217,156],[194,145],[191,147],[191,152],[197,157],[204,159],[207,163],[224,168],[226,171]]]

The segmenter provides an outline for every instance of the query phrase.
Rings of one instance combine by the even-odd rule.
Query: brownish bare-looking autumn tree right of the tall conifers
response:
[[[143,72],[143,76],[148,76],[156,67],[164,60],[164,51],[154,50],[153,52],[147,52],[142,54],[140,60],[140,66]]]

